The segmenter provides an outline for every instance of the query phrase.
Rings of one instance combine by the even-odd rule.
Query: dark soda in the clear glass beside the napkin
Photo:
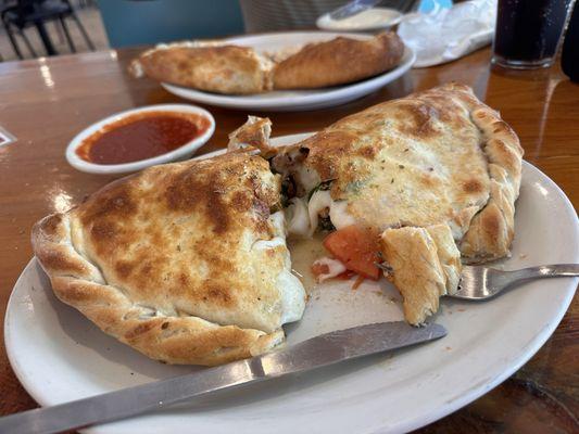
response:
[[[499,0],[493,62],[551,66],[574,0]]]

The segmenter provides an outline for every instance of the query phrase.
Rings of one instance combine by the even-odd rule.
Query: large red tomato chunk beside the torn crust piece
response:
[[[372,280],[378,280],[378,237],[358,226],[348,226],[324,239],[327,248],[349,270]]]

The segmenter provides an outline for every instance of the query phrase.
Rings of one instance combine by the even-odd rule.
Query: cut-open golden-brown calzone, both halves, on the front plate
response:
[[[273,348],[301,318],[286,228],[348,232],[332,248],[355,244],[367,278],[381,261],[413,324],[456,291],[462,261],[508,254],[523,149],[470,88],[388,101],[281,149],[270,127],[250,117],[225,155],[151,167],[39,221],[56,296],[151,358],[216,365]],[[319,264],[327,277],[338,263]]]

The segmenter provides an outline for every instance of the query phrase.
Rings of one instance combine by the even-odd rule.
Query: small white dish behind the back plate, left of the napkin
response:
[[[345,20],[332,20],[329,14],[319,16],[316,26],[330,31],[379,31],[395,26],[402,13],[390,8],[372,8]]]

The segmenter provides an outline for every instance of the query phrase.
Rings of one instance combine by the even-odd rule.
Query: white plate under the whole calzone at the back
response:
[[[344,33],[291,31],[282,34],[242,36],[239,38],[226,39],[226,41],[239,46],[253,47],[259,51],[274,51],[309,42],[329,40],[336,38],[337,36],[345,36],[357,39],[368,39],[372,37],[368,35]],[[318,90],[278,90],[253,95],[222,95],[218,93],[202,92],[200,90],[164,82],[161,85],[177,97],[222,107],[267,110],[276,112],[304,111],[343,104],[348,101],[352,101],[356,98],[362,98],[368,93],[372,93],[402,76],[412,67],[415,60],[416,56],[412,50],[406,48],[404,51],[404,56],[402,58],[402,62],[392,71],[363,81],[354,82],[352,85]]]

